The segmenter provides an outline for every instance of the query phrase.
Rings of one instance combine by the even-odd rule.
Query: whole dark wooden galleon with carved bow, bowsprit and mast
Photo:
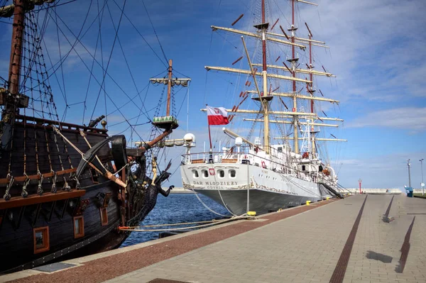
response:
[[[31,67],[22,64],[24,23],[43,2],[53,1],[0,7],[0,17],[13,16],[9,78],[0,88],[0,273],[118,248],[129,235],[119,227],[138,225],[158,192],[170,192],[161,189],[170,174],[157,170],[151,150],[178,126],[169,113],[171,61],[169,79],[161,82],[168,84],[167,117],[155,119],[160,134],[139,148],[127,149],[123,135],[109,136],[104,116],[88,126],[60,122],[57,114],[35,118],[35,99],[21,93]],[[32,52],[40,57],[40,48]],[[55,110],[50,87],[38,79],[40,86],[42,107]]]

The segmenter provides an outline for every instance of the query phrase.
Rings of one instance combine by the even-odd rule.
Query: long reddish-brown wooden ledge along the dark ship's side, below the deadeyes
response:
[[[11,209],[13,207],[30,206],[32,204],[43,204],[45,202],[50,201],[60,201],[62,199],[71,199],[74,197],[84,196],[84,194],[86,194],[85,189],[74,189],[70,192],[60,191],[56,194],[48,192],[43,194],[42,196],[39,196],[38,194],[31,194],[26,198],[23,198],[22,196],[12,196],[9,201],[0,199],[0,209]]]

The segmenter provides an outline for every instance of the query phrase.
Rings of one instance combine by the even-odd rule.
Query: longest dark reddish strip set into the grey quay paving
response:
[[[332,278],[330,279],[330,283],[342,283],[344,279],[344,274],[346,273],[346,268],[348,267],[349,257],[351,257],[352,247],[354,246],[356,232],[358,231],[359,222],[361,221],[362,211],[364,211],[364,206],[366,205],[368,195],[364,199],[364,203],[359,210],[358,216],[356,216],[356,220],[354,226],[352,226],[351,233],[349,233],[349,237],[346,240],[344,248],[342,250],[342,254],[337,261],[337,265],[334,268],[334,272],[332,274]]]

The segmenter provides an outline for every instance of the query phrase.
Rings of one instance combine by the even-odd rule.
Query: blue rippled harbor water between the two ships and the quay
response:
[[[206,196],[198,195],[202,202],[213,211],[222,215],[230,215],[223,206],[220,206],[216,202],[207,198]],[[158,225],[158,224],[170,224],[170,223],[183,223],[183,222],[195,222],[195,221],[210,221],[212,219],[223,219],[224,216],[219,216],[212,211],[209,211],[203,204],[197,199],[195,194],[169,194],[168,197],[164,197],[158,194],[157,204],[151,213],[146,216],[145,220],[140,223],[141,226],[147,225]],[[178,226],[182,227],[182,226]],[[155,227],[146,229],[161,229],[171,228]],[[177,228],[177,226],[173,226]],[[129,235],[120,248],[128,245],[135,245],[138,243],[144,243],[149,240],[158,239],[160,232],[132,232]]]

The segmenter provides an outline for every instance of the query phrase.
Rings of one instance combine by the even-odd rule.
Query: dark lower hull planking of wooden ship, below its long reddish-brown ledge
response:
[[[82,199],[89,199],[89,205],[82,213],[84,235],[75,236],[75,205],[77,199],[66,199],[40,204],[38,217],[35,218],[38,205],[21,206],[8,209],[0,229],[0,273],[26,270],[38,265],[44,265],[55,260],[90,255],[117,248],[126,239],[127,233],[120,233],[121,223],[120,201],[112,196],[107,211],[107,221],[102,223],[100,208],[102,203],[97,199],[99,193],[116,194],[118,188],[112,182],[104,182],[91,187],[84,187]],[[70,201],[74,206],[70,206]],[[65,206],[65,208],[64,208]],[[49,219],[50,209],[54,209]],[[62,216],[62,211],[65,213]],[[23,211],[21,221],[19,215]],[[19,224],[19,225],[18,225]],[[35,251],[34,229],[48,227],[49,248],[44,252]],[[19,257],[12,255],[20,255]]]

